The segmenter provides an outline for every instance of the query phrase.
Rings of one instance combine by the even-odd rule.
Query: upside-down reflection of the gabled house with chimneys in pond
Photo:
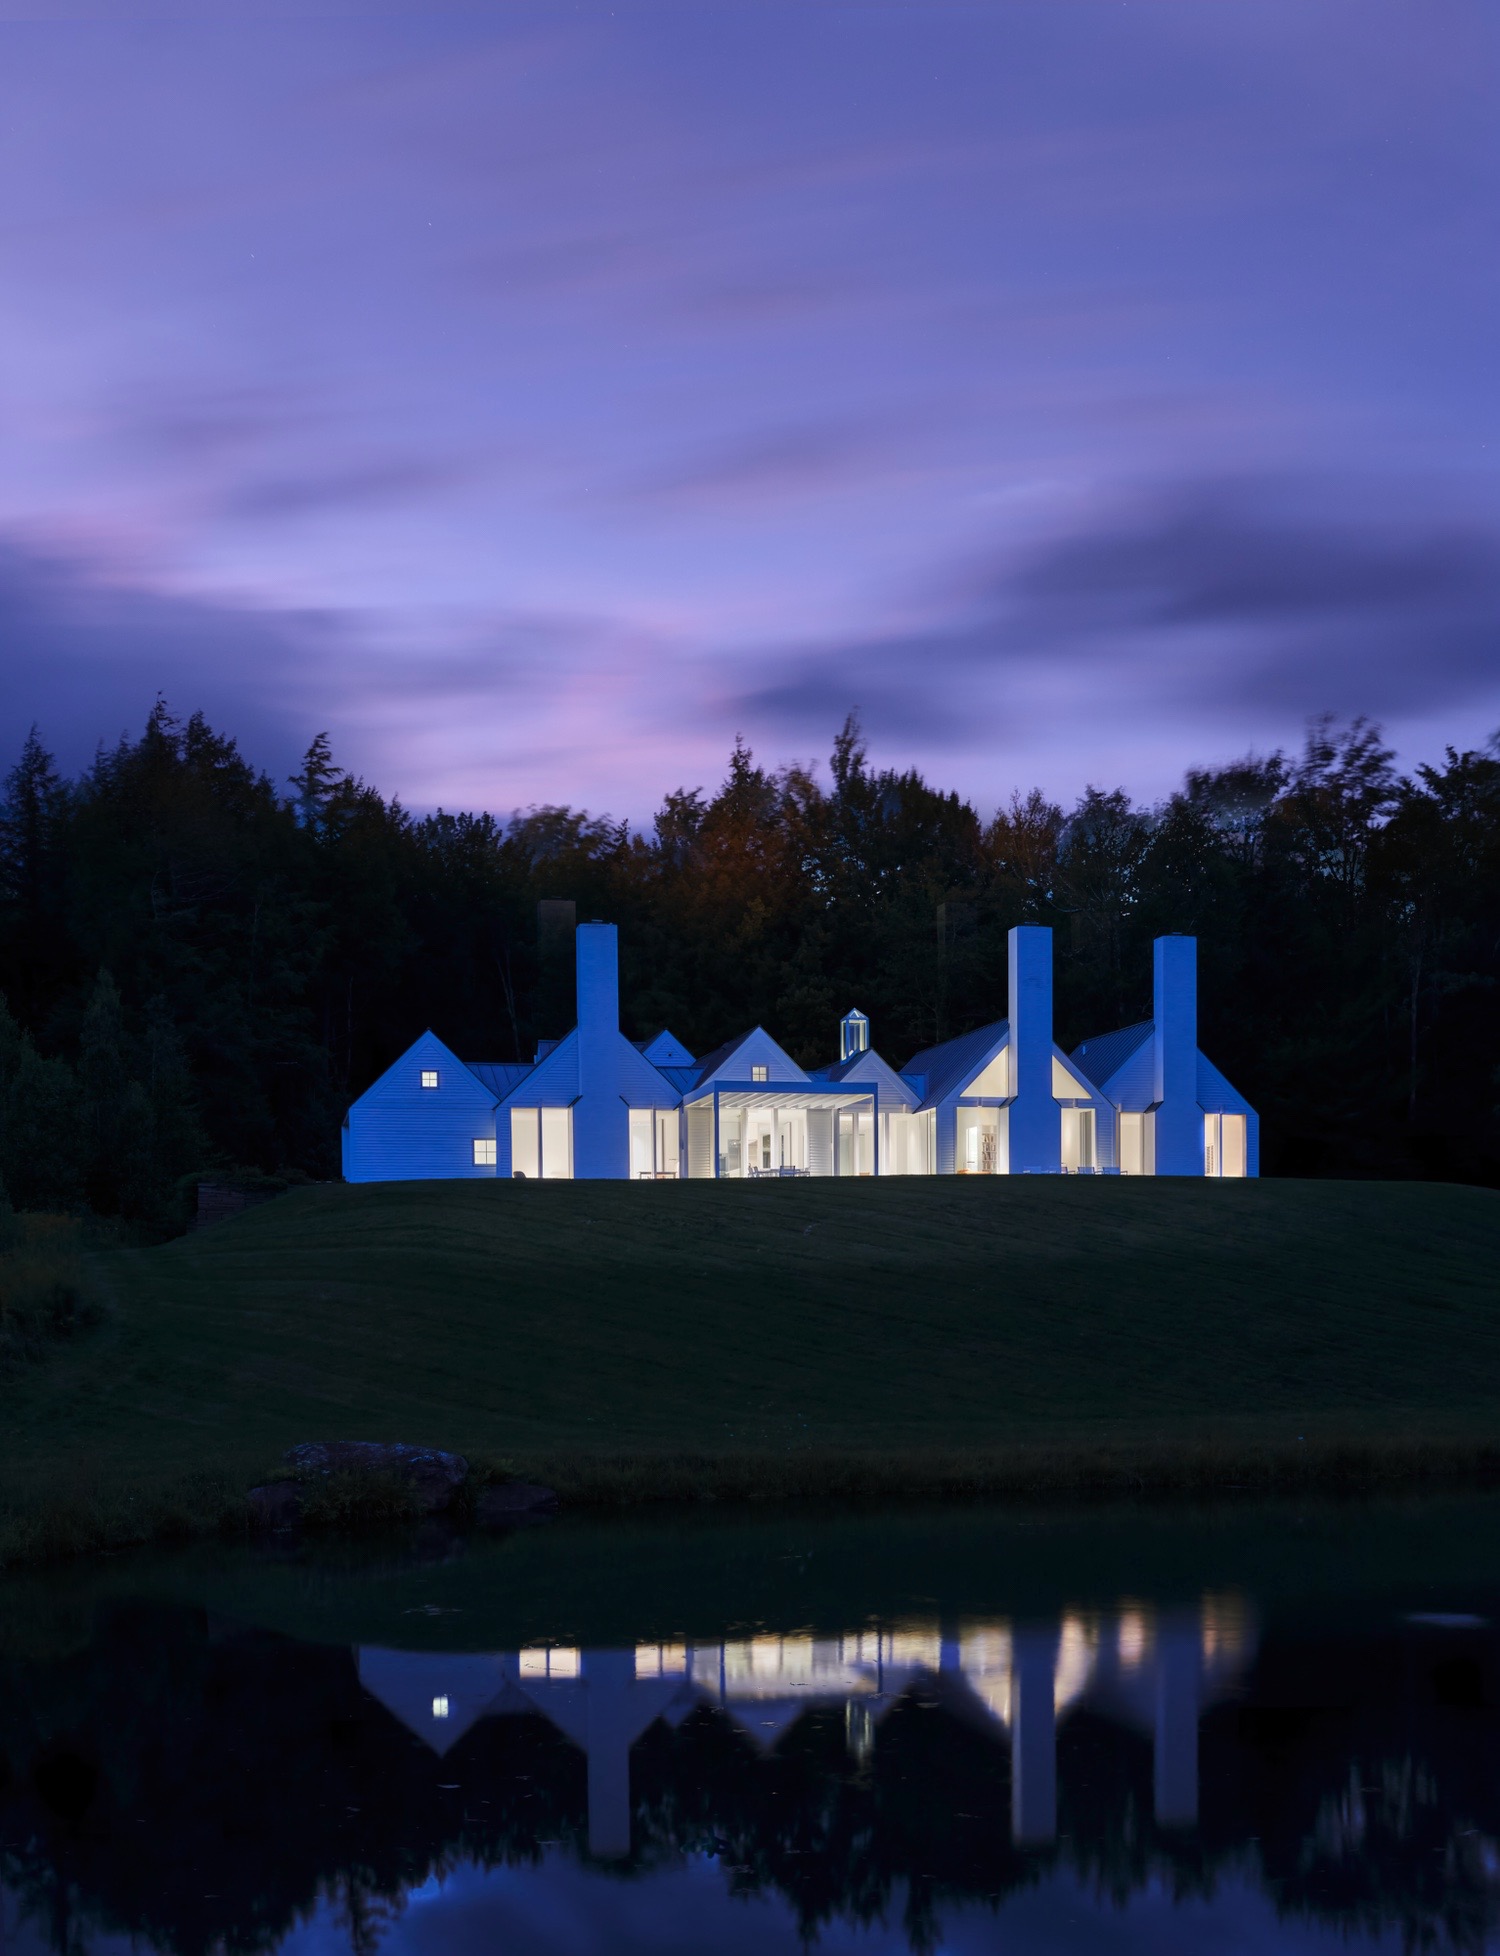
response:
[[[1234,1598],[1156,1616],[1126,1608],[1060,1623],[909,1623],[841,1637],[761,1635],[724,1643],[557,1645],[477,1655],[362,1647],[360,1684],[440,1756],[493,1717],[542,1713],[587,1758],[589,1848],[632,1850],[630,1753],[657,1721],[712,1712],[761,1753],[800,1719],[833,1712],[857,1760],[911,1696],[1009,1747],[1011,1839],[1058,1831],[1058,1727],[1089,1710],[1152,1743],[1154,1815],[1191,1829],[1199,1809],[1199,1719],[1254,1659]]]

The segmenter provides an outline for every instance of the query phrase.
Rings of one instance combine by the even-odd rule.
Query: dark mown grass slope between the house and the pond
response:
[[[194,1532],[299,1440],[575,1502],[1500,1475],[1500,1197],[1420,1183],[303,1189],[4,1383],[0,1555]]]

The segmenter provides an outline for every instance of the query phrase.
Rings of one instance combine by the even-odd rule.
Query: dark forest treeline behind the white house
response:
[[[571,808],[413,816],[327,737],[278,784],[201,716],[0,802],[0,1174],[18,1207],[172,1226],[201,1172],[338,1172],[348,1099],[424,1027],[530,1056],[569,1001],[538,902],[620,925],[626,1031],[763,1023],[804,1062],[849,1005],[896,1064],[1005,1011],[1005,931],[1054,925],[1058,1039],[1150,1013],[1195,931],[1205,1048],[1271,1174],[1500,1183],[1500,739],[1404,777],[1379,728],[1195,769],[1164,806],[1013,794],[990,820],[868,765],[737,743],[647,833]]]

